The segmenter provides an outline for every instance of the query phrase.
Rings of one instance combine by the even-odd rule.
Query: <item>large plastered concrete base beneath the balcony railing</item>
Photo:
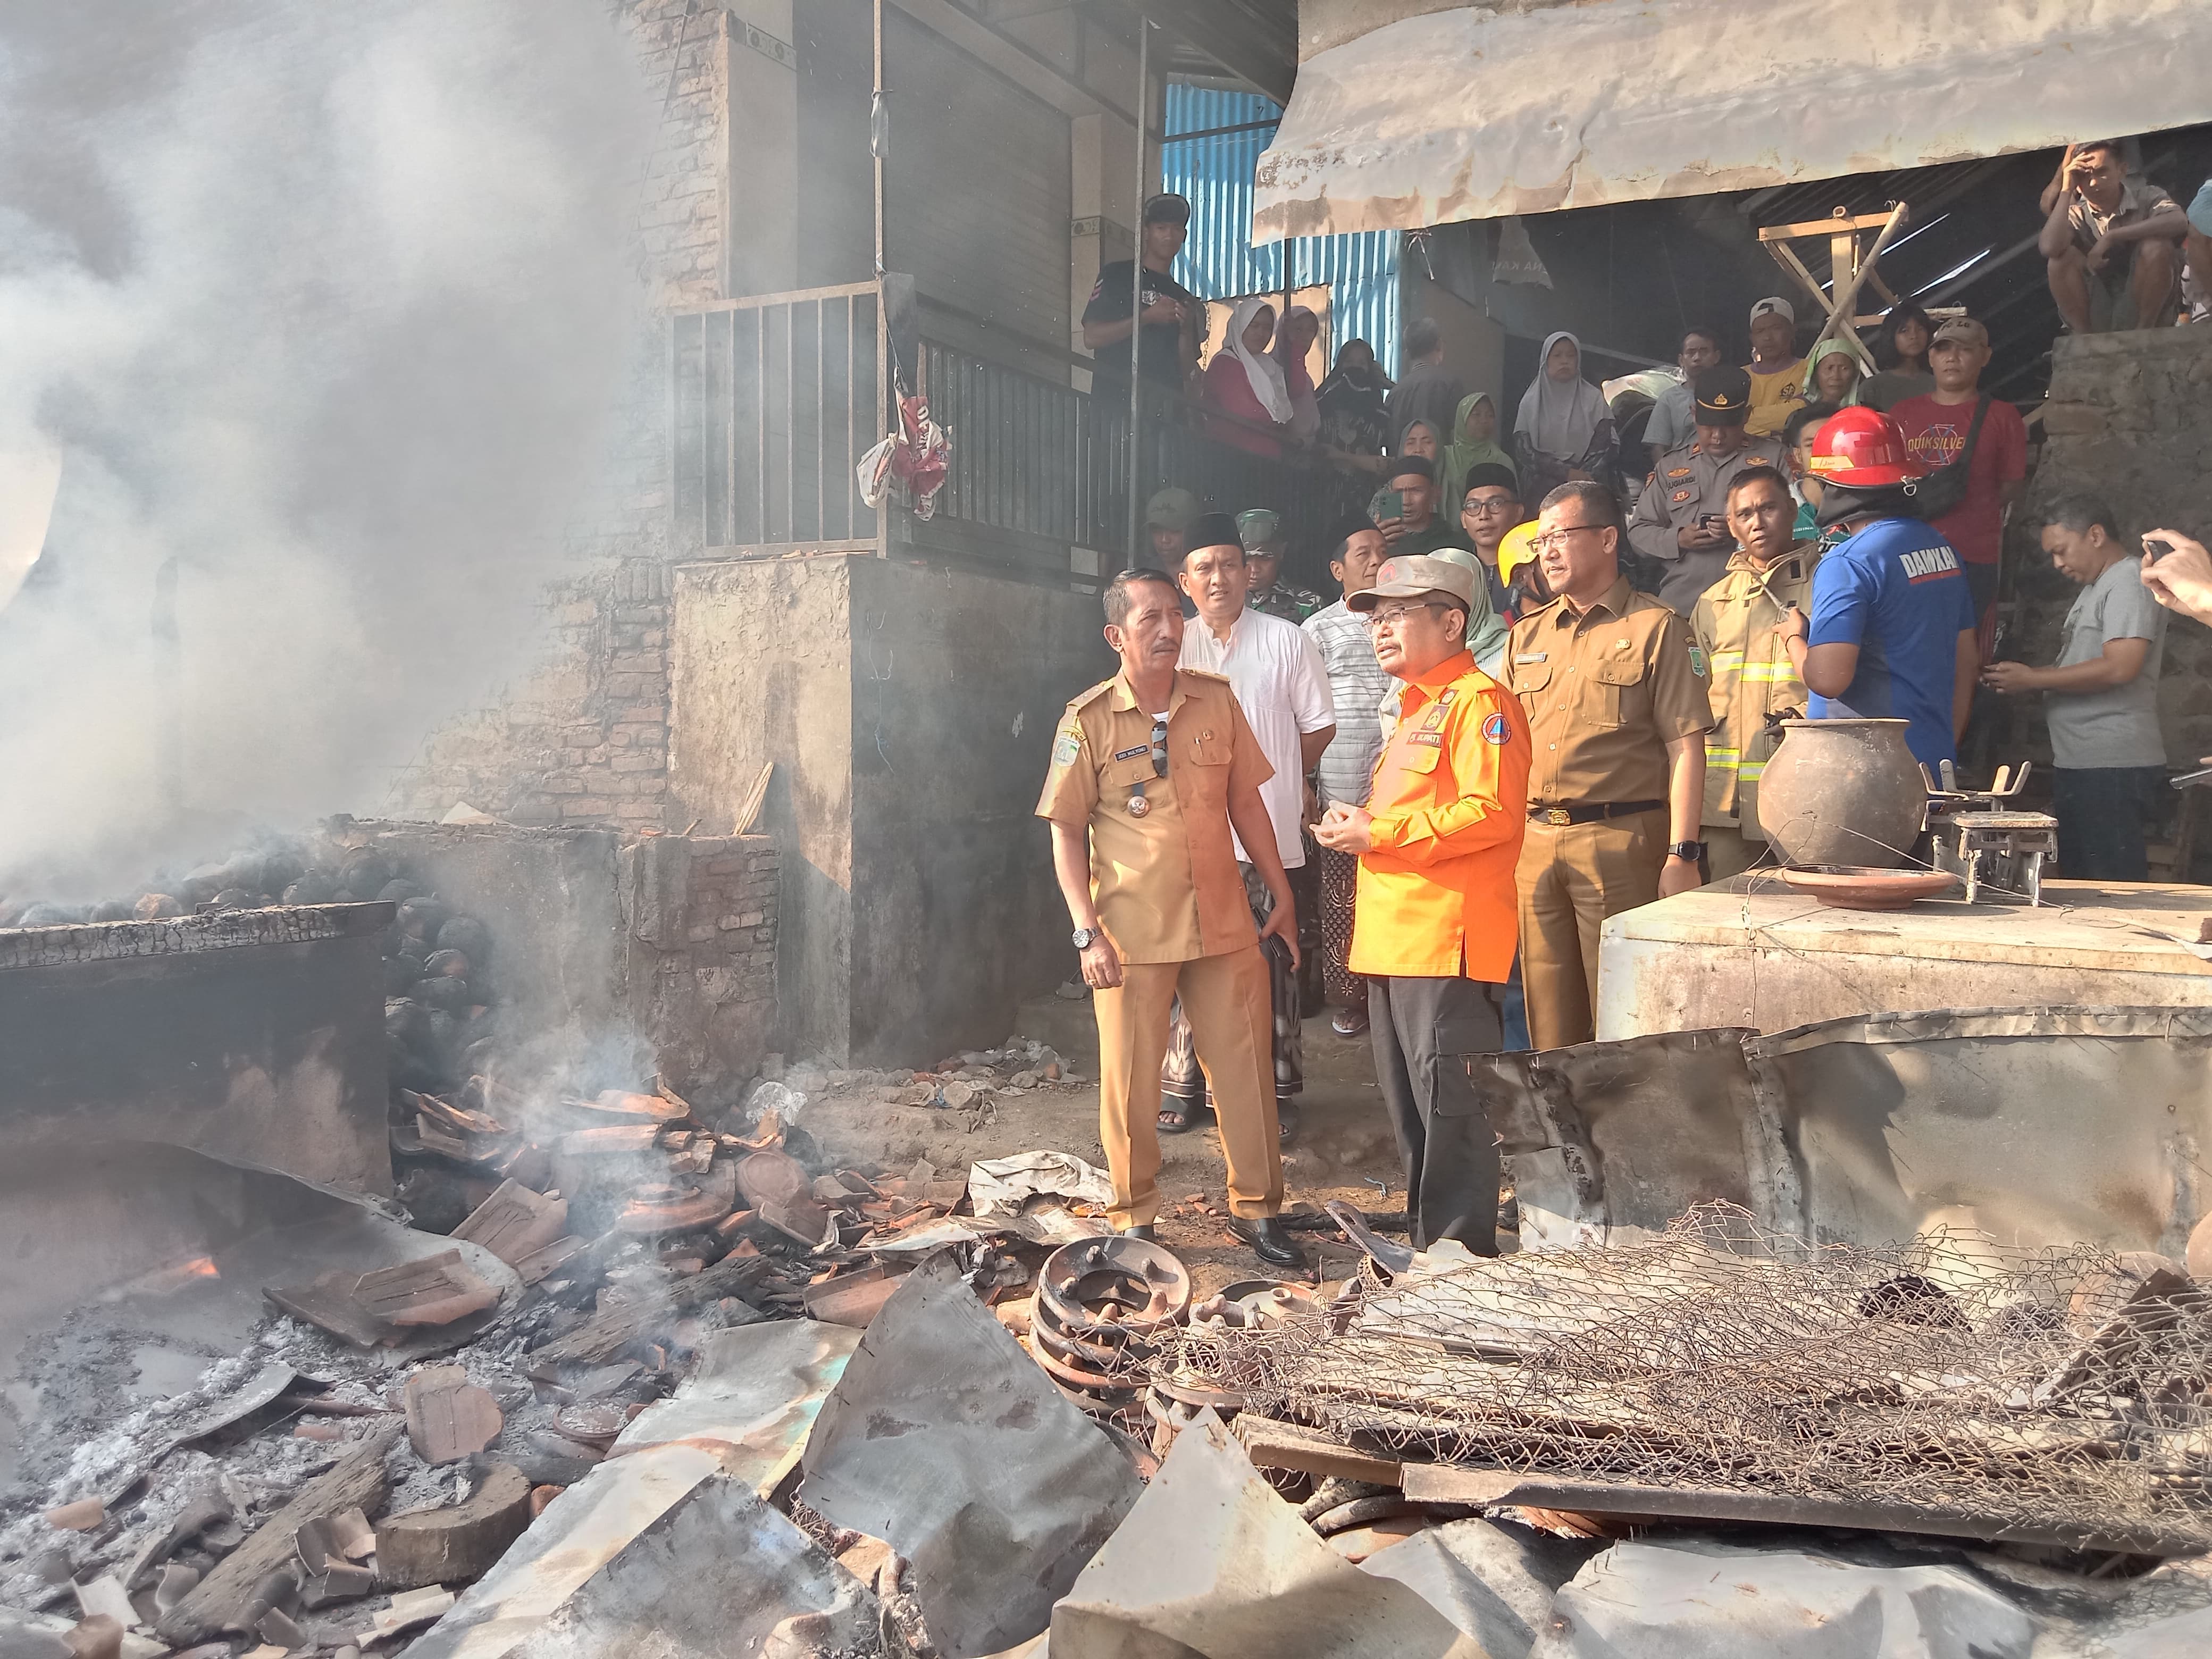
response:
[[[1033,816],[1099,602],[869,555],[688,564],[670,785],[701,834],[776,765],[785,1046],[929,1064],[993,1044],[1075,962]]]

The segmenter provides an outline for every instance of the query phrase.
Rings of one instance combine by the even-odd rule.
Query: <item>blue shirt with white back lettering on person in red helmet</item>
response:
[[[1845,538],[1812,577],[1814,646],[1858,646],[1843,697],[1809,697],[1814,719],[1902,719],[1913,759],[1955,761],[1951,688],[1973,593],[1958,551],[1916,518],[1882,518]]]

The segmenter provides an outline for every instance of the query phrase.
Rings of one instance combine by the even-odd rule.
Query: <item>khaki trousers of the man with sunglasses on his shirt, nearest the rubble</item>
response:
[[[1272,1006],[1259,945],[1190,962],[1124,962],[1121,984],[1093,991],[1099,1018],[1099,1139],[1113,1175],[1117,1228],[1159,1217],[1159,1062],[1168,1053],[1168,1004],[1190,1018],[1199,1068],[1214,1099],[1230,1166],[1230,1214],[1283,1208],[1283,1155],[1274,1117]]]

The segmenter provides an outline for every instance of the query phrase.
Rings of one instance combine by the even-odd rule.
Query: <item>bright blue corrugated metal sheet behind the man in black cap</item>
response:
[[[1398,372],[1398,232],[1356,237],[1296,237],[1252,246],[1252,170],[1274,128],[1177,139],[1219,126],[1279,119],[1283,106],[1259,93],[1168,82],[1168,139],[1161,146],[1161,188],[1190,197],[1190,241],[1183,243],[1179,281],[1201,299],[1283,290],[1283,259],[1292,285],[1329,285],[1329,354],[1363,338],[1389,374]]]

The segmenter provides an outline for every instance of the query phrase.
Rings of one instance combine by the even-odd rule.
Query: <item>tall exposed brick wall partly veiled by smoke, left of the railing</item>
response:
[[[615,0],[659,126],[635,250],[639,330],[591,495],[544,591],[538,666],[434,732],[385,812],[456,801],[526,825],[681,830],[668,796],[668,338],[659,307],[721,294],[728,13],[719,0]]]

